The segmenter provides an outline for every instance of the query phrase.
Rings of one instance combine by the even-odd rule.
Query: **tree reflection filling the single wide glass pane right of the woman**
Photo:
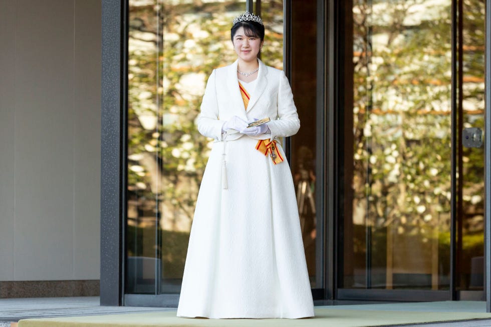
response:
[[[355,1],[345,287],[448,287],[450,0]]]

